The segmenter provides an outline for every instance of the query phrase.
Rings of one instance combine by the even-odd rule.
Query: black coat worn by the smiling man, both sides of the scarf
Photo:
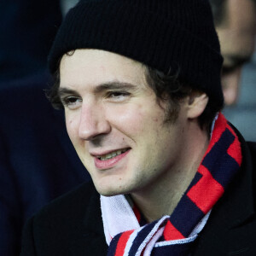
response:
[[[193,255],[256,255],[256,144],[241,138],[241,146],[240,172],[213,207]],[[99,195],[86,183],[28,221],[21,255],[102,256],[107,250]]]

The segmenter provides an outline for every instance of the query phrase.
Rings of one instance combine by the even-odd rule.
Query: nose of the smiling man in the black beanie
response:
[[[111,131],[103,109],[96,104],[83,104],[80,112],[79,137],[90,141]]]

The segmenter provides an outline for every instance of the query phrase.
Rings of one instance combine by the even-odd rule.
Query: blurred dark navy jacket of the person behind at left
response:
[[[20,254],[27,218],[90,180],[44,95],[46,73],[0,84],[0,255]]]

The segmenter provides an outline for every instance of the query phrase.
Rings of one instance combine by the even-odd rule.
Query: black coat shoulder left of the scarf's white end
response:
[[[100,195],[92,182],[50,202],[23,230],[21,255],[101,255],[96,250],[106,250],[106,241]]]

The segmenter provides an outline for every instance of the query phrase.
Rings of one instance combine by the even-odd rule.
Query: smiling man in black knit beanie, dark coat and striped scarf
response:
[[[21,255],[254,255],[256,148],[219,113],[221,67],[206,0],[72,9],[49,98],[93,183],[30,219]]]

